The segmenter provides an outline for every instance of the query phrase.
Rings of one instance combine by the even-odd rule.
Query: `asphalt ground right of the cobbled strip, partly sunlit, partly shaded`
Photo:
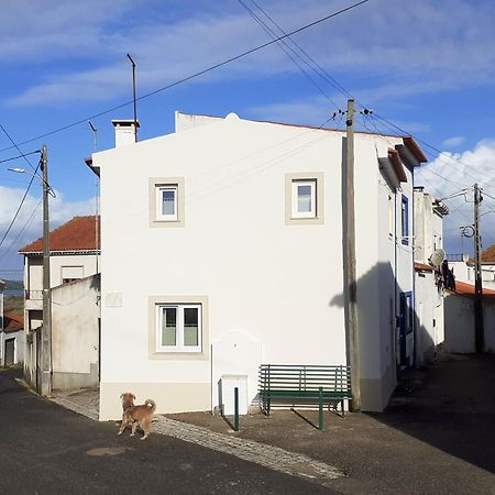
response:
[[[442,356],[408,374],[385,413],[327,411],[324,431],[290,410],[244,416],[238,433],[219,416],[167,416],[336,465],[346,473],[331,485],[341,493],[494,494],[494,356]],[[317,410],[299,413],[318,422]]]

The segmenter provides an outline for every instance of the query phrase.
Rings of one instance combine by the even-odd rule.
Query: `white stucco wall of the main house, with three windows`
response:
[[[102,215],[100,419],[119,417],[119,395],[128,389],[138,400],[154,394],[158,413],[215,407],[209,345],[232,332],[260,342],[264,362],[345,364],[342,138],[229,117],[94,155]],[[389,307],[377,289],[375,145],[386,156],[389,143],[356,135],[356,251],[358,278],[373,287],[358,286],[373,340],[363,377],[381,381],[391,362],[389,344],[381,346],[391,336],[382,334]],[[324,223],[286,224],[286,173],[324,174]],[[150,227],[150,177],[184,177],[185,227]],[[411,255],[400,256],[408,265],[398,276],[410,290]],[[208,298],[206,359],[151,359],[152,296]],[[258,364],[253,355],[246,373]]]

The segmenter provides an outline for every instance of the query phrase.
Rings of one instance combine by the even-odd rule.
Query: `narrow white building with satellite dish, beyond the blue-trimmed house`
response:
[[[448,208],[415,187],[415,314],[416,365],[430,363],[444,339],[443,277],[435,253],[443,249],[443,217]],[[433,260],[433,262],[432,262]]]

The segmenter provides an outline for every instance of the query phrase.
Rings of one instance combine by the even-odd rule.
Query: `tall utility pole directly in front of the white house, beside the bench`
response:
[[[344,292],[346,301],[348,362],[351,365],[352,410],[361,410],[360,348],[358,336],[358,286],[355,277],[355,226],[354,226],[354,100],[348,100],[346,139],[343,190],[346,193],[343,208],[344,235]]]

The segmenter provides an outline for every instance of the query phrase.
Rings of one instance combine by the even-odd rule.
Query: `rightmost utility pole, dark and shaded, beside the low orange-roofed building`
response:
[[[482,268],[481,268],[481,239],[480,239],[480,204],[483,197],[480,191],[480,186],[474,185],[474,342],[476,353],[481,354],[484,349],[484,324],[483,324],[483,284],[482,284]]]

